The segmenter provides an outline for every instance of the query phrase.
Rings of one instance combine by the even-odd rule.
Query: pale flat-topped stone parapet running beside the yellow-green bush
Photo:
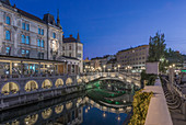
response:
[[[160,79],[155,81],[154,86],[146,87],[144,91],[154,93],[144,125],[173,125]]]

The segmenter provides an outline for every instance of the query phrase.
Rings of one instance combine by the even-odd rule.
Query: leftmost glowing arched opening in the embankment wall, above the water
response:
[[[15,94],[19,91],[20,91],[19,86],[15,82],[8,82],[1,89],[1,93],[3,93],[4,95],[8,95],[10,93]]]

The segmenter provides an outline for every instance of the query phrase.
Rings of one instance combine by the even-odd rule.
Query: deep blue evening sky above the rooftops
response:
[[[49,12],[60,21],[65,36],[78,31],[84,57],[115,54],[149,43],[161,31],[167,47],[186,54],[186,0],[10,0],[43,19]]]

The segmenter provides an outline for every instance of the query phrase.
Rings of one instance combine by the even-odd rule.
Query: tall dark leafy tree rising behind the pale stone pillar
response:
[[[160,61],[161,58],[165,57],[165,39],[164,34],[160,34],[159,32],[154,37],[150,36],[149,39],[149,58],[148,61]]]

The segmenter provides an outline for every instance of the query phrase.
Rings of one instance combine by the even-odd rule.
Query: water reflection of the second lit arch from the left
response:
[[[26,118],[24,118],[25,125],[34,125],[38,120],[38,114],[27,115]]]

